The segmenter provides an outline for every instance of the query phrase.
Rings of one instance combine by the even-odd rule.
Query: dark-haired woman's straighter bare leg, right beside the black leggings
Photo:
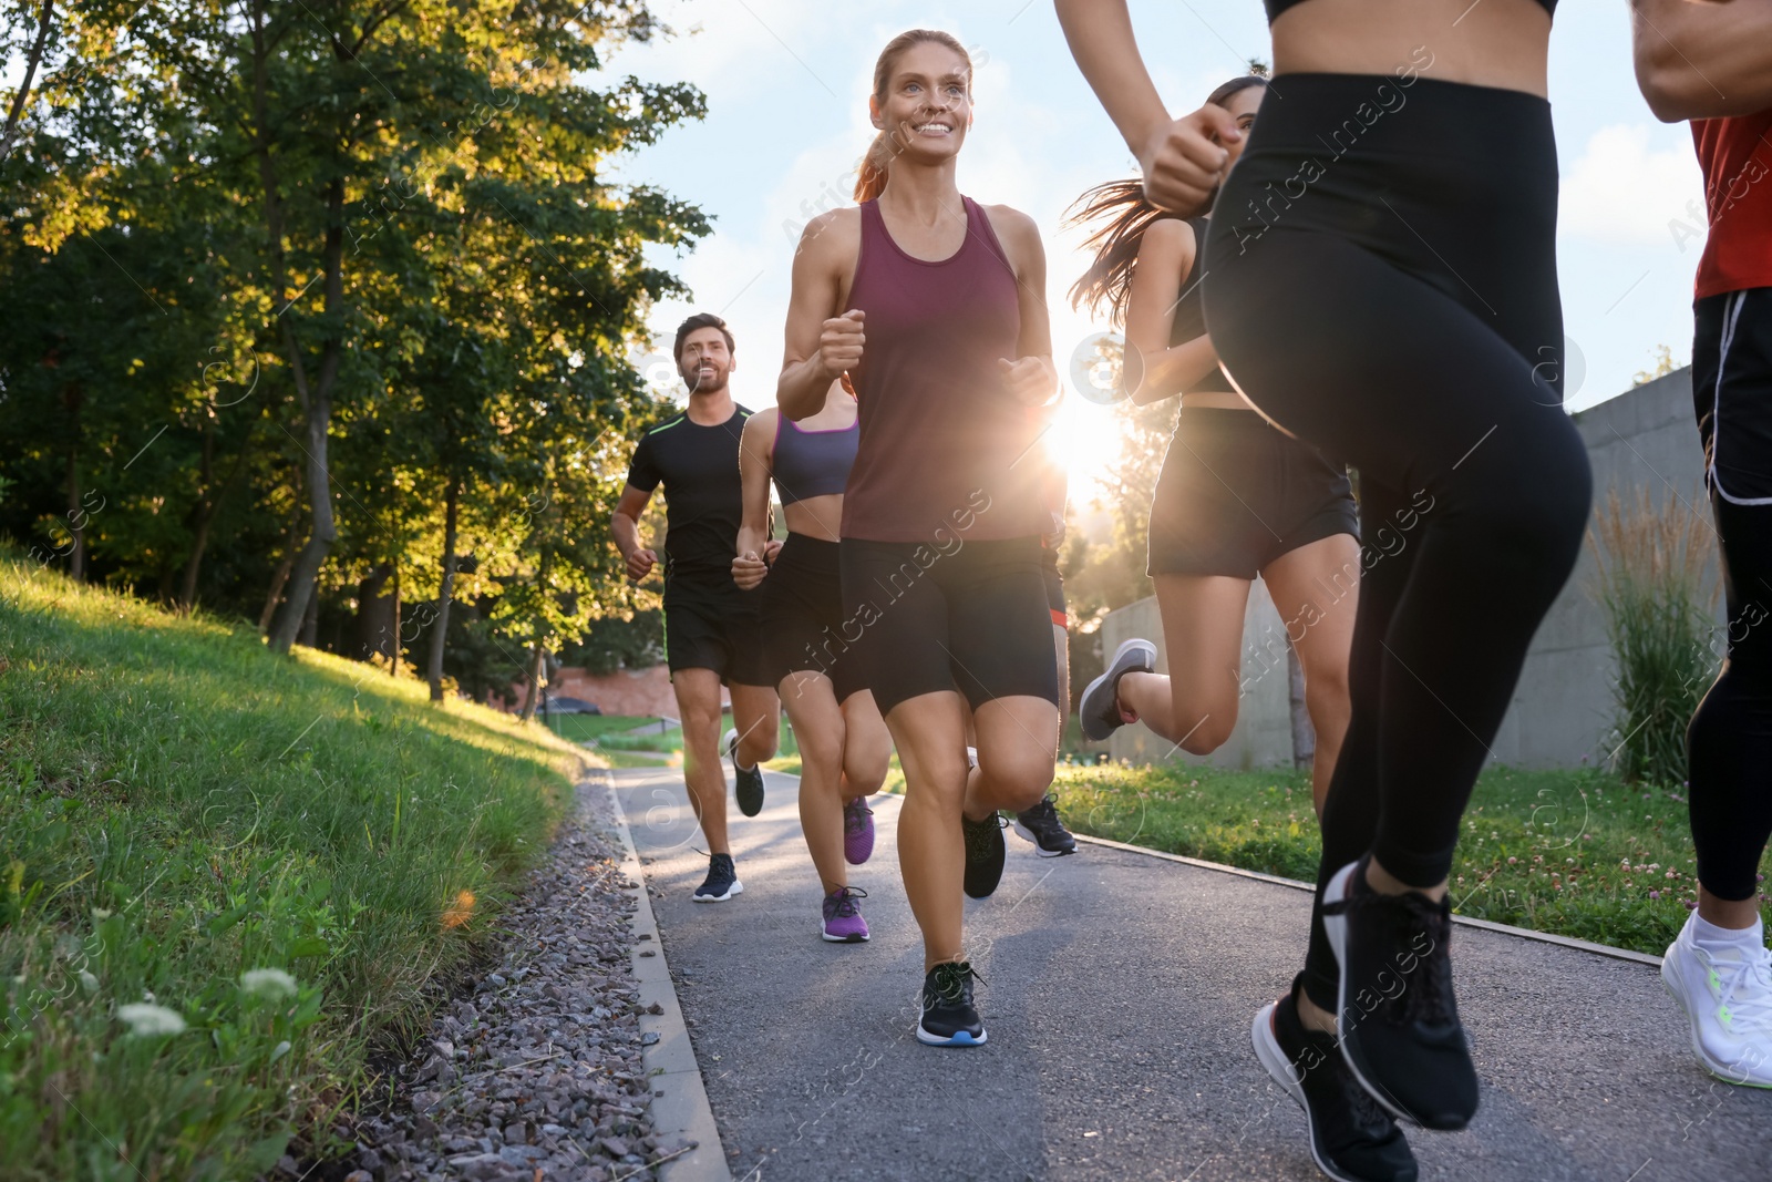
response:
[[[1304,709],[1317,732],[1311,760],[1311,801],[1324,813],[1329,776],[1354,704],[1347,689],[1347,661],[1354,649],[1354,613],[1359,606],[1359,542],[1336,533],[1301,546],[1267,564],[1262,579],[1274,597],[1286,636],[1304,668]]]

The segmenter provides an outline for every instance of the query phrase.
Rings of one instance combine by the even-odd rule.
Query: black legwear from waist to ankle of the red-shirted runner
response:
[[[1687,730],[1698,881],[1760,893],[1772,836],[1772,287],[1696,308],[1692,402],[1722,540],[1728,661]]]

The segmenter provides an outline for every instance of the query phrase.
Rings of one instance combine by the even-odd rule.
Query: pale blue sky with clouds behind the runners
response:
[[[622,46],[610,74],[693,82],[707,119],[624,158],[618,181],[656,184],[698,204],[714,230],[693,250],[657,250],[693,299],[659,303],[650,328],[663,353],[649,377],[668,383],[670,338],[689,312],[718,312],[739,342],[739,402],[774,400],[799,229],[849,204],[854,167],[874,136],[867,97],[874,60],[905,28],[943,28],[975,66],[976,122],[960,152],[960,191],[1022,209],[1047,252],[1047,305],[1060,372],[1092,324],[1065,289],[1086,266],[1065,207],[1092,184],[1132,175],[1136,161],[1077,73],[1049,0],[918,4],[874,0],[656,0],[677,35]],[[1177,115],[1217,83],[1271,60],[1258,0],[1131,0],[1157,90]],[[1550,35],[1550,106],[1561,204],[1558,269],[1570,409],[1623,393],[1669,346],[1692,351],[1692,275],[1703,248],[1703,184],[1685,124],[1662,124],[1637,92],[1625,0],[1563,4]],[[1425,392],[1426,395],[1428,392]],[[1111,463],[1111,411],[1069,397],[1061,438],[1074,475]]]

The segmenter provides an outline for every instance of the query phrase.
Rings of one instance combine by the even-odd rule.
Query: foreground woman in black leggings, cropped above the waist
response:
[[[1462,1129],[1478,1104],[1448,952],[1458,824],[1591,494],[1563,413],[1556,0],[1267,0],[1283,101],[1228,172],[1242,133],[1210,106],[1170,119],[1122,0],[1056,5],[1146,195],[1194,213],[1223,186],[1205,314],[1232,381],[1359,471],[1354,716],[1310,953],[1251,1037],[1325,1173],[1414,1178],[1391,1118]]]

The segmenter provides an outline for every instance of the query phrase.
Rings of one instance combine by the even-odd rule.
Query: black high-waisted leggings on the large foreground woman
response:
[[[1214,207],[1207,330],[1279,427],[1359,470],[1368,548],[1322,884],[1372,851],[1446,879],[1538,622],[1588,517],[1563,413],[1543,99],[1285,74]],[[1306,989],[1334,1008],[1313,914]]]

